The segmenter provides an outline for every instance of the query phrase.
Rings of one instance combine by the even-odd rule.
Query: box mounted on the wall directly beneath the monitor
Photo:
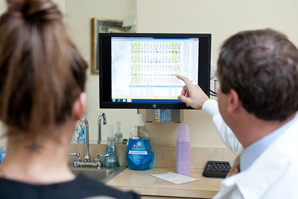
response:
[[[146,109],[146,122],[182,122],[181,109]]]

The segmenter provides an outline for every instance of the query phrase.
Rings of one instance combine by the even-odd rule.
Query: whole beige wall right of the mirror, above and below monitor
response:
[[[298,46],[297,8],[297,0],[137,0],[137,32],[211,33],[216,63],[221,43],[240,30],[274,28]],[[192,146],[224,146],[202,110],[184,110],[183,123],[190,127]],[[175,145],[178,124],[146,126],[151,144]]]

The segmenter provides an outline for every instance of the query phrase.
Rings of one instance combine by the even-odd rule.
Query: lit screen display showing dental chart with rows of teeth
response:
[[[188,77],[198,85],[200,38],[112,37],[112,102],[181,102]]]

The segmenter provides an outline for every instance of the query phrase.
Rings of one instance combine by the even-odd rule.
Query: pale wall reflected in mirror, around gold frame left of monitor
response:
[[[69,33],[88,63],[87,71],[87,111],[90,139],[97,139],[97,115],[104,111],[107,124],[121,121],[123,134],[129,135],[133,128],[136,109],[99,109],[99,79],[91,75],[91,18],[123,20],[126,16],[135,15],[135,0],[65,0],[65,22]],[[106,140],[108,128],[102,127],[103,140]],[[127,136],[125,136],[128,138]]]

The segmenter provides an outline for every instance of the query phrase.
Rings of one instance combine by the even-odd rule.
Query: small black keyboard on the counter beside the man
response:
[[[208,161],[203,176],[208,178],[225,178],[229,169],[229,162]]]

